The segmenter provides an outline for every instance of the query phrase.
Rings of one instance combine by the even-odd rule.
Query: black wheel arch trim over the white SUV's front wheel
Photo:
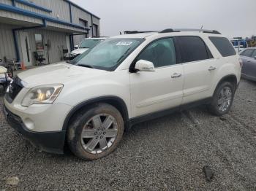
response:
[[[125,104],[124,100],[116,96],[102,96],[99,98],[92,98],[88,101],[83,101],[77,106],[75,106],[73,109],[71,109],[64,120],[62,130],[67,130],[70,120],[79,111],[82,111],[83,109],[86,109],[87,107],[93,104],[99,104],[99,103],[110,104],[111,106],[116,107],[116,109],[118,109],[118,111],[121,113],[124,119],[124,125],[125,125],[124,128],[127,128],[129,126],[129,114],[127,109],[127,104]]]

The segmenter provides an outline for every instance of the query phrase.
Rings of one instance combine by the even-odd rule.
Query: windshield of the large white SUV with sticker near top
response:
[[[71,63],[93,69],[115,70],[144,39],[107,39]]]

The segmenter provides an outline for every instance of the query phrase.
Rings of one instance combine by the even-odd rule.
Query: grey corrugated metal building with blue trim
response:
[[[68,0],[0,0],[0,58],[32,66],[37,52],[45,63],[61,61],[63,50],[99,36],[99,19]]]

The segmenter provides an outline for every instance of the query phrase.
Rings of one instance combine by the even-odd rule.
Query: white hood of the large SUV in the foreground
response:
[[[68,84],[83,78],[91,79],[99,75],[106,74],[108,71],[85,68],[82,66],[74,66],[69,63],[55,63],[48,66],[38,67],[37,69],[29,69],[18,74],[27,88],[38,85],[49,84]]]

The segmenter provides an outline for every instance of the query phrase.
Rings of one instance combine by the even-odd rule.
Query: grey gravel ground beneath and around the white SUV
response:
[[[0,190],[256,190],[254,82],[241,81],[224,117],[200,106],[140,123],[115,152],[91,162],[39,152],[2,113],[0,120]]]

